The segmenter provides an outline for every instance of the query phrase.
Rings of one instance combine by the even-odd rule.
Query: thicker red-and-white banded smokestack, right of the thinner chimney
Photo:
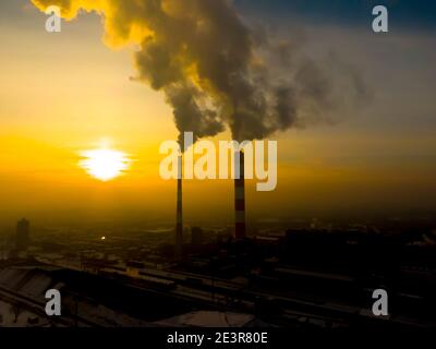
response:
[[[239,155],[239,156],[238,156]],[[239,164],[238,164],[239,158]],[[244,153],[234,153],[234,232],[237,239],[245,238],[245,160]],[[239,166],[239,170],[238,170]],[[239,176],[238,176],[239,172]]]

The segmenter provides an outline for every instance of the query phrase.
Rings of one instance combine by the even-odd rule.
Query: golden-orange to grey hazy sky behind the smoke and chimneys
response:
[[[249,183],[249,217],[433,212],[435,27],[421,21],[428,9],[409,22],[392,17],[391,32],[376,35],[371,12],[367,22],[352,22],[352,11],[341,5],[324,14],[287,1],[268,11],[258,1],[234,5],[244,22],[268,27],[322,67],[349,69],[367,93],[361,105],[329,112],[327,122],[269,136],[279,142],[277,190],[259,193]],[[63,22],[62,33],[51,35],[31,1],[2,2],[0,9],[0,226],[21,217],[174,219],[175,182],[159,178],[158,149],[178,130],[164,94],[131,80],[137,75],[132,47],[105,46],[95,13]],[[404,11],[403,4],[393,10],[400,20]],[[213,140],[230,137],[226,130]],[[80,153],[102,139],[134,159],[109,182],[77,165]],[[231,224],[233,215],[231,181],[185,181],[186,224]]]

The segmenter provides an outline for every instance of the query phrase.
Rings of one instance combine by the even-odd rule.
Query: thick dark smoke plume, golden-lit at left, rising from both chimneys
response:
[[[328,120],[365,94],[355,71],[337,69],[337,60],[326,69],[299,55],[299,45],[252,29],[229,0],[32,2],[41,11],[58,5],[66,20],[81,10],[100,14],[107,45],[137,47],[135,80],[162,91],[180,133],[195,139],[226,127],[239,141],[263,139]]]

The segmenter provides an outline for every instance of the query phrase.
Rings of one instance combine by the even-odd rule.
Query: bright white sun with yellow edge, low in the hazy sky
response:
[[[86,151],[81,155],[84,159],[80,161],[80,166],[89,176],[104,182],[122,176],[132,161],[125,153],[110,148]]]

